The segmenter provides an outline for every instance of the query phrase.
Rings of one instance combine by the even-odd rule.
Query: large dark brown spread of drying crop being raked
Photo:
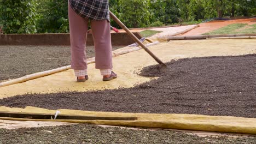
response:
[[[134,88],[26,94],[1,99],[0,105],[256,118],[255,62],[256,54],[179,59],[167,63],[165,73],[156,65],[144,68],[141,75],[159,79]]]

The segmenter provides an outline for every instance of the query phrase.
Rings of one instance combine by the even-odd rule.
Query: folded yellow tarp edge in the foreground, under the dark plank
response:
[[[26,107],[25,109],[0,107],[0,111],[6,112],[31,112],[54,114],[54,110]],[[92,112],[78,110],[58,110],[63,115],[101,116],[101,117],[137,117],[136,121],[79,121],[79,120],[45,120],[72,123],[89,123],[104,125],[123,125],[136,127],[184,129],[218,131],[223,133],[256,134],[256,118],[242,117],[215,117],[186,114],[149,114],[149,113],[119,113],[119,112]],[[15,121],[42,121],[42,119],[0,118]]]

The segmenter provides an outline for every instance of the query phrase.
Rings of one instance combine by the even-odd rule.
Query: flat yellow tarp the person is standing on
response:
[[[187,57],[231,56],[256,53],[256,39],[241,40],[179,40],[160,43],[149,47],[163,62]],[[65,91],[89,91],[96,89],[114,89],[133,87],[150,81],[149,77],[138,76],[143,67],[157,64],[144,50],[139,50],[113,58],[114,71],[118,79],[103,82],[99,70],[94,64],[88,65],[89,80],[75,82],[73,70],[40,77],[15,85],[0,88],[0,98],[26,93],[56,93]]]

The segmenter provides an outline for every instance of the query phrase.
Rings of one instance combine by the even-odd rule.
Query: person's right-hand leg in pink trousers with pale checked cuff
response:
[[[101,70],[101,75],[110,76],[113,68],[110,23],[107,20],[91,21],[91,30],[95,47],[95,68]]]

